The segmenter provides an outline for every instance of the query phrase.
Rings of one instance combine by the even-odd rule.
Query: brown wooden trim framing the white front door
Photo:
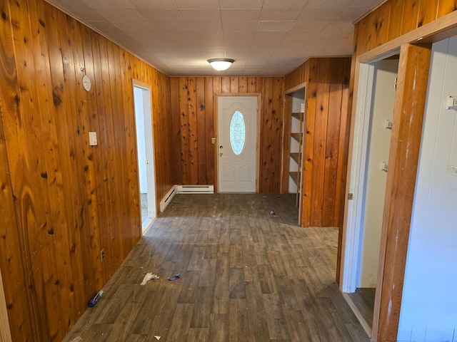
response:
[[[219,158],[218,158],[218,146],[219,146],[219,97],[233,97],[233,96],[250,96],[257,98],[257,127],[256,127],[256,193],[258,194],[260,189],[260,126],[261,126],[261,104],[262,94],[261,93],[214,93],[214,192],[219,193]]]

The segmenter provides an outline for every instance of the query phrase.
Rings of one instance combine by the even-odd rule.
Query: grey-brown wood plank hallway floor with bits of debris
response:
[[[297,217],[295,195],[176,195],[64,341],[368,342],[334,281],[338,230]]]

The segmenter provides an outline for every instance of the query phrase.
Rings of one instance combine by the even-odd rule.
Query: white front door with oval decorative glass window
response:
[[[257,96],[218,100],[219,192],[256,192]]]

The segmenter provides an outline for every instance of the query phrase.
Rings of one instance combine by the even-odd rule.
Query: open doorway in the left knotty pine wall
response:
[[[138,174],[143,232],[156,217],[156,181],[154,168],[153,123],[151,89],[134,81],[136,118],[136,146],[138,151]]]

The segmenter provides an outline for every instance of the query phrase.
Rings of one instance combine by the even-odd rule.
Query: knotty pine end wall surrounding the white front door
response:
[[[283,77],[172,77],[176,184],[215,185],[217,94],[260,93],[260,192],[279,192],[283,139]]]

